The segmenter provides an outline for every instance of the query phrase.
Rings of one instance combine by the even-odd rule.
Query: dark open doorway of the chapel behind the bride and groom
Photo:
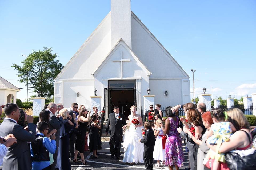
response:
[[[126,118],[131,114],[130,108],[134,105],[134,90],[110,90],[110,102],[111,102],[111,112],[114,106],[120,108],[120,113],[123,113]]]

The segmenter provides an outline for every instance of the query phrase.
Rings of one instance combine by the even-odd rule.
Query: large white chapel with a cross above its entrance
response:
[[[189,76],[131,11],[130,3],[111,0],[109,14],[55,78],[55,103],[90,108],[97,89],[98,110],[105,106],[107,118],[115,105],[126,117],[132,105],[141,113],[148,88],[154,104],[190,102]]]

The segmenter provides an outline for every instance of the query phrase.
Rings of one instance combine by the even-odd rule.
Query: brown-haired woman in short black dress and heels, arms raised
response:
[[[86,165],[85,158],[83,157],[83,152],[85,150],[85,136],[87,131],[87,125],[90,119],[91,111],[87,111],[86,108],[82,108],[79,110],[79,114],[77,116],[78,122],[78,129],[76,132],[76,139],[75,139],[75,158],[73,162],[77,163],[77,154],[80,153],[81,162]]]

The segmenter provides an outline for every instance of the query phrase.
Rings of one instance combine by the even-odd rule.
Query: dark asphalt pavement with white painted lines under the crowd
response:
[[[102,150],[99,150],[101,153],[98,159],[93,158],[92,153],[85,152],[84,156],[87,161],[87,165],[82,165],[80,162],[77,164],[74,164],[73,161],[70,161],[72,170],[87,170],[87,169],[94,169],[94,170],[113,170],[113,169],[136,169],[136,170],[143,170],[146,169],[144,166],[144,163],[138,163],[138,164],[129,164],[122,161],[123,154],[124,154],[124,148],[121,148],[121,157],[120,160],[110,159],[110,151],[109,151],[109,141],[103,141],[102,142]],[[183,152],[185,156],[185,162],[184,166],[188,166],[188,157],[187,152],[185,152],[185,146],[183,146]],[[78,157],[78,161],[80,161]],[[154,160],[153,165],[156,164],[156,160]],[[185,167],[181,167],[180,169],[185,169]],[[160,170],[160,169],[168,169],[167,167],[155,167],[154,170]],[[175,169],[175,167],[174,167]]]

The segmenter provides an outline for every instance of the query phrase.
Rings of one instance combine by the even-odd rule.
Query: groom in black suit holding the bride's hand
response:
[[[125,121],[125,115],[122,113],[119,113],[119,107],[114,106],[114,113],[109,114],[109,119],[107,120],[106,125],[106,135],[109,133],[109,125],[110,125],[110,140],[109,140],[109,146],[110,146],[110,153],[111,153],[111,159],[115,158],[116,160],[119,160],[120,157],[120,148],[122,143],[122,126],[126,125]],[[114,148],[115,145],[115,148]]]

